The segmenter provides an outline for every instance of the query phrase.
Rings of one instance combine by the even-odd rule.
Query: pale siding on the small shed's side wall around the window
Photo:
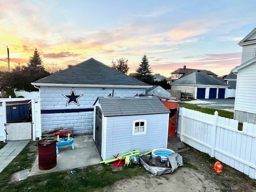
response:
[[[132,122],[147,120],[147,132],[132,135]],[[106,159],[114,154],[132,150],[147,152],[154,148],[166,148],[169,114],[108,117],[106,137]]]

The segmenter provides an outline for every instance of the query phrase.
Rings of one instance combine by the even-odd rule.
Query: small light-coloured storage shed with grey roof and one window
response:
[[[169,113],[157,97],[97,98],[93,138],[102,159],[167,148]]]

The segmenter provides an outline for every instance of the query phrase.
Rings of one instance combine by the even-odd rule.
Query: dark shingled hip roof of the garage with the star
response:
[[[149,86],[102,62],[90,58],[80,64],[44,77],[32,84],[94,84]]]

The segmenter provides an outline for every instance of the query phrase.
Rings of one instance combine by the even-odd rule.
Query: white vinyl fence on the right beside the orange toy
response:
[[[256,125],[179,108],[177,135],[201,152],[256,179]]]

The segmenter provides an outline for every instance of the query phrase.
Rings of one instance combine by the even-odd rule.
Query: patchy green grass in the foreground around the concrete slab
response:
[[[148,174],[142,165],[121,166],[118,171],[106,164],[77,168],[76,174],[70,170],[29,177],[17,183],[10,183],[12,174],[32,167],[37,152],[31,151],[33,142],[1,172],[0,191],[3,192],[85,192],[103,191],[104,187],[111,186],[118,180],[133,178]]]

